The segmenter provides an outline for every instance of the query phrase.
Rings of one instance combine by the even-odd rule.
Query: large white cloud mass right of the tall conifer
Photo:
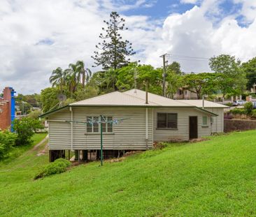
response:
[[[231,54],[242,61],[256,56],[256,10],[253,22],[248,27],[240,27],[235,17],[228,16],[215,24],[214,15],[220,13],[217,1],[206,0],[201,6],[194,6],[183,14],[173,14],[166,18],[162,29],[162,44],[146,59],[147,63],[159,66],[159,54],[170,53],[187,57],[212,57]],[[252,7],[250,7],[252,9]],[[211,13],[213,16],[206,16]],[[210,71],[208,61],[173,57],[169,61],[179,61],[186,73]]]

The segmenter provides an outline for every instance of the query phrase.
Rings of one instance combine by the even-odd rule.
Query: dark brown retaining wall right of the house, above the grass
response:
[[[224,119],[224,132],[232,132],[236,130],[254,130],[256,129],[256,121],[240,120],[240,119]]]

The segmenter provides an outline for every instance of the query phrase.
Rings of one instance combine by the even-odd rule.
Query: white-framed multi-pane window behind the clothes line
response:
[[[103,117],[106,121],[112,121],[113,117]],[[87,122],[93,121],[92,124],[86,124],[87,133],[100,133],[100,125],[97,123],[99,117],[87,117]],[[112,133],[113,132],[113,123],[102,123],[102,132],[103,133]]]

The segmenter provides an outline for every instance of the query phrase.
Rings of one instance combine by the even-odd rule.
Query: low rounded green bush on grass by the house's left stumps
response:
[[[39,179],[42,177],[48,177],[52,174],[59,174],[62,172],[66,172],[66,168],[69,167],[71,163],[69,160],[66,160],[64,158],[59,158],[55,160],[55,162],[50,163],[49,165],[43,167],[43,169],[36,174],[34,179]]]

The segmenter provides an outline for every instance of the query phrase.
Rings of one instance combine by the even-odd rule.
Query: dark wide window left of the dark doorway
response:
[[[177,128],[177,114],[157,113],[157,128]]]

